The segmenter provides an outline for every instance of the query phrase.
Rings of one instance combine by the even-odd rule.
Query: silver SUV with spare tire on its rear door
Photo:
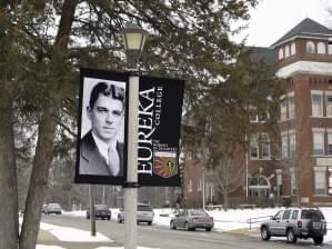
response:
[[[312,238],[315,245],[323,242],[326,235],[326,221],[319,209],[290,208],[280,210],[271,220],[261,225],[261,237],[286,237],[286,241],[295,243],[298,238]]]

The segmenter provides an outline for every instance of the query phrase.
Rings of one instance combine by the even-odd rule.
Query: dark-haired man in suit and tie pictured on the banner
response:
[[[123,143],[117,139],[123,112],[123,88],[105,82],[93,87],[87,107],[91,130],[80,145],[80,175],[123,177]]]

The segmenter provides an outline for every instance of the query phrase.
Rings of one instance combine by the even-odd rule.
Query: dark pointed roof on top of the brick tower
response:
[[[294,37],[328,39],[329,37],[332,38],[332,30],[310,18],[305,18],[298,26],[275,41],[271,47],[275,48],[276,46],[286,42]]]

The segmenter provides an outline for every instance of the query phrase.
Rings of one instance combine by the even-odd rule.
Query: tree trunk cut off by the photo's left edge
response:
[[[17,249],[19,237],[18,182],[13,131],[12,70],[7,59],[13,37],[7,23],[8,1],[0,1],[0,248]],[[9,71],[9,72],[8,72]]]

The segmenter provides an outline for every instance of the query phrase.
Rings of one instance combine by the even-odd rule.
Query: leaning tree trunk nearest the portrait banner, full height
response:
[[[77,0],[66,0],[63,3],[60,26],[52,51],[52,59],[58,62],[59,58],[66,60],[64,54],[69,42],[77,3]],[[64,61],[63,64],[66,64]],[[57,78],[59,77],[57,70],[57,67],[51,67],[50,79],[56,80],[53,82],[50,80],[49,82],[49,98],[46,97],[46,104],[42,108],[30,187],[26,201],[26,216],[20,235],[20,249],[34,249],[37,245],[41,209],[47,193],[49,169],[53,158],[53,139],[56,133],[54,117],[57,113],[57,103],[53,100],[59,99],[57,98],[58,92],[56,90],[58,89],[59,83],[57,81]]]

